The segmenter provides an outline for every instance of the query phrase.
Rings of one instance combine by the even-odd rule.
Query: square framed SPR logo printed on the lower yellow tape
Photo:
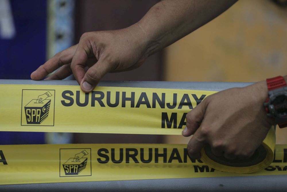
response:
[[[91,149],[60,149],[60,177],[91,176]]]

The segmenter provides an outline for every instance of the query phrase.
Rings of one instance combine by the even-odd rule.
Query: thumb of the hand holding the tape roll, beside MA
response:
[[[199,128],[201,121],[205,115],[207,102],[201,101],[193,110],[186,115],[186,127],[182,131],[185,137],[191,136]]]

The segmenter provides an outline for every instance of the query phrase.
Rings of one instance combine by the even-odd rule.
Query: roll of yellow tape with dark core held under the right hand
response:
[[[201,149],[201,160],[219,171],[232,173],[252,173],[268,167],[274,159],[274,149],[276,143],[275,127],[269,130],[254,154],[249,159],[226,159],[223,156],[212,154],[210,146],[206,145]]]

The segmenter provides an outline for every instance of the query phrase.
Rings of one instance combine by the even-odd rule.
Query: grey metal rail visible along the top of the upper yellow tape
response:
[[[8,80],[0,79],[0,84],[31,84],[31,85],[79,85],[75,80]],[[164,89],[189,89],[221,91],[232,87],[245,87],[252,83],[238,82],[172,82],[172,81],[101,81],[98,86],[108,87],[140,87]]]

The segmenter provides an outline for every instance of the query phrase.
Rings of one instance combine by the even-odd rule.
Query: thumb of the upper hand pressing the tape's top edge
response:
[[[86,93],[91,92],[110,69],[110,63],[105,62],[103,59],[98,60],[98,62],[86,72],[81,82],[81,89]]]

